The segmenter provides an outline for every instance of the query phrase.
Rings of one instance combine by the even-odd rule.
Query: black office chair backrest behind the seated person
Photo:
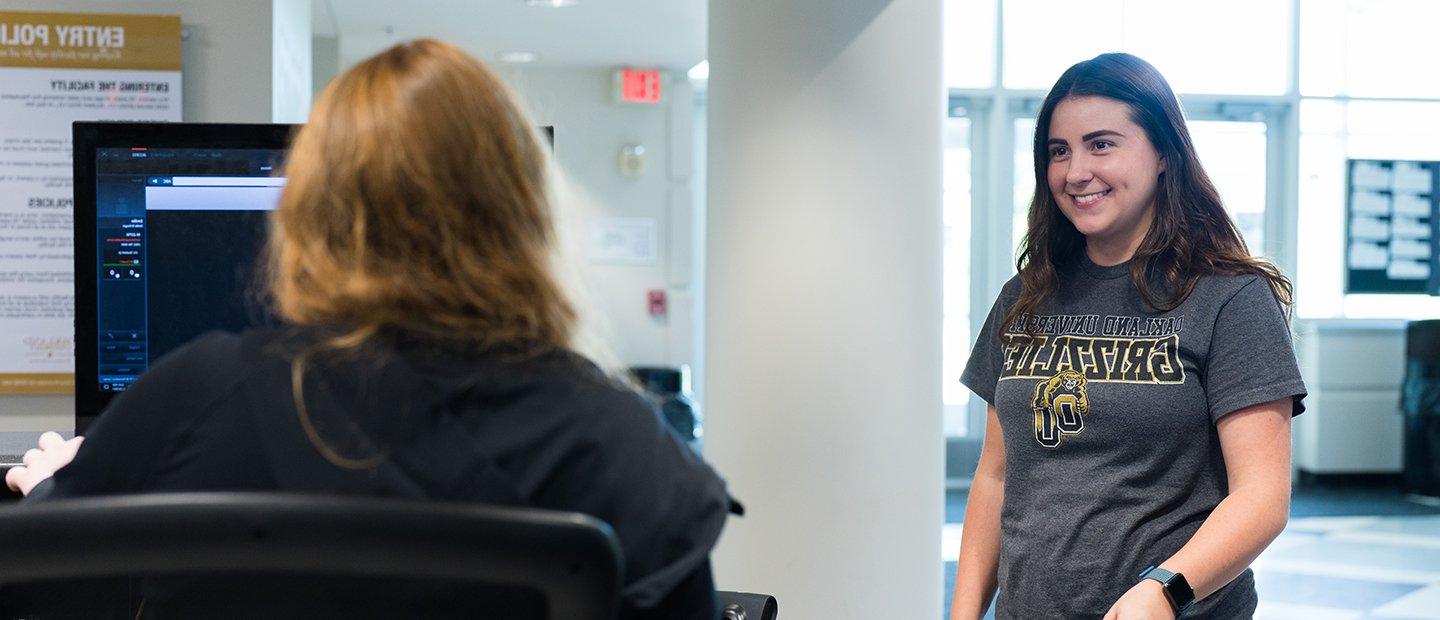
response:
[[[353,617],[357,611],[431,617],[439,610],[467,617],[612,619],[622,567],[611,528],[579,514],[279,493],[130,495],[9,506],[0,509],[0,558],[6,584],[0,603],[7,616],[27,617],[66,616],[23,610],[35,601],[63,608],[96,590],[112,601],[114,583],[124,581],[121,591],[131,594],[125,613],[145,617]],[[115,580],[134,577],[145,580]],[[95,585],[104,580],[111,590]],[[66,583],[72,594],[24,585],[48,581]],[[360,587],[321,587],[336,583]],[[311,604],[334,606],[336,591],[344,593],[343,604],[312,613]],[[504,594],[505,607],[461,600],[485,593]],[[395,607],[406,594],[438,607]],[[94,616],[69,608],[71,616]]]

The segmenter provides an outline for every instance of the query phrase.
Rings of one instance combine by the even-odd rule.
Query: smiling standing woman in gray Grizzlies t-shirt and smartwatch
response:
[[[1017,269],[962,383],[988,407],[952,619],[1250,617],[1305,410],[1290,283],[1250,255],[1153,66],[1037,117]]]

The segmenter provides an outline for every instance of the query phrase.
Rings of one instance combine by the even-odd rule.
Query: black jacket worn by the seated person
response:
[[[302,413],[292,363],[314,341],[212,332],[176,350],[111,403],[75,462],[30,501],[288,491],[583,512],[621,541],[622,616],[716,617],[708,554],[730,499],[645,398],[572,352],[390,339],[302,355]]]

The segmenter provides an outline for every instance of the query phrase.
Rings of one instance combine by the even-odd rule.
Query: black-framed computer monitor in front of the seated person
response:
[[[268,321],[255,259],[292,129],[75,124],[76,434],[166,352]]]

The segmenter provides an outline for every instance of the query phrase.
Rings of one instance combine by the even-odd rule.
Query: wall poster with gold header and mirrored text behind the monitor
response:
[[[180,121],[180,17],[0,12],[0,394],[75,388],[73,121]]]

